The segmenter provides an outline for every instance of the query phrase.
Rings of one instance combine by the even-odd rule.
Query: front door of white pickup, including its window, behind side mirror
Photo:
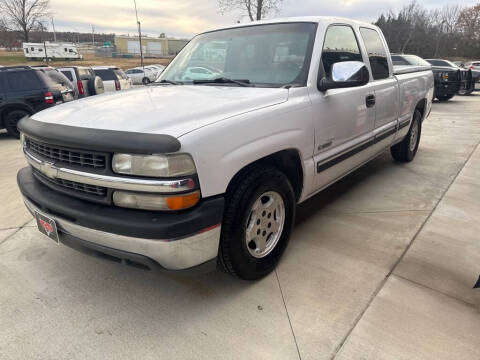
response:
[[[359,44],[358,34],[350,25],[330,25],[319,72],[328,78],[334,63],[365,62]],[[368,147],[375,126],[375,93],[368,83],[325,92],[315,89],[310,97],[315,126],[315,191],[371,157]]]

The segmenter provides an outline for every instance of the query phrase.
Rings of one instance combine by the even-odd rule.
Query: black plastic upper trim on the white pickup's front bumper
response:
[[[39,182],[30,167],[21,169],[17,183],[41,210],[77,225],[144,239],[175,240],[222,222],[224,198],[203,199],[192,209],[166,213],[95,204],[58,193]]]

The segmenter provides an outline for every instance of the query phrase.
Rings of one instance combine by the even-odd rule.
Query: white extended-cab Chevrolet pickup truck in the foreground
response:
[[[30,166],[18,185],[57,243],[148,269],[218,262],[257,279],[287,247],[297,203],[387,149],[414,158],[433,86],[428,67],[396,74],[367,23],[210,31],[156,83],[22,119]]]

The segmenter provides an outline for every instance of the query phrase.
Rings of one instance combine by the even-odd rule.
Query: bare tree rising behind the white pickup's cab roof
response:
[[[268,14],[279,10],[283,0],[218,0],[218,6],[222,14],[240,10],[251,21],[261,20]]]

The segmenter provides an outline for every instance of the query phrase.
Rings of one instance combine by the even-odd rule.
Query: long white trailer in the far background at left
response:
[[[27,59],[82,59],[77,45],[73,43],[24,43],[23,53]]]

